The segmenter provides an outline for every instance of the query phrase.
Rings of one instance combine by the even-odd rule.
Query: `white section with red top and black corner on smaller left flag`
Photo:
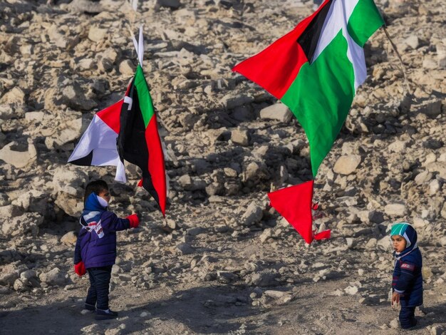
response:
[[[125,182],[125,168],[120,160],[116,140],[120,131],[120,111],[123,99],[96,113],[83,133],[68,163],[83,166],[117,167],[115,180]]]

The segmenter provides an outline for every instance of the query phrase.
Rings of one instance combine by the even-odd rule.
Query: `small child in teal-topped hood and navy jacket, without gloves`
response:
[[[390,232],[395,257],[392,280],[392,306],[401,304],[401,328],[417,324],[415,307],[422,304],[422,257],[417,232],[408,223],[396,223]]]

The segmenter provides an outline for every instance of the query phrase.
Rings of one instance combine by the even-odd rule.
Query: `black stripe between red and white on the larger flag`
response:
[[[301,33],[301,36],[297,38],[297,43],[299,43],[304,50],[308,63],[313,61],[314,51],[316,51],[316,47],[318,46],[323,24],[326,21],[328,11],[334,1],[336,0],[330,0],[324,4],[318,14],[311,20],[310,24],[308,24],[304,32]]]

